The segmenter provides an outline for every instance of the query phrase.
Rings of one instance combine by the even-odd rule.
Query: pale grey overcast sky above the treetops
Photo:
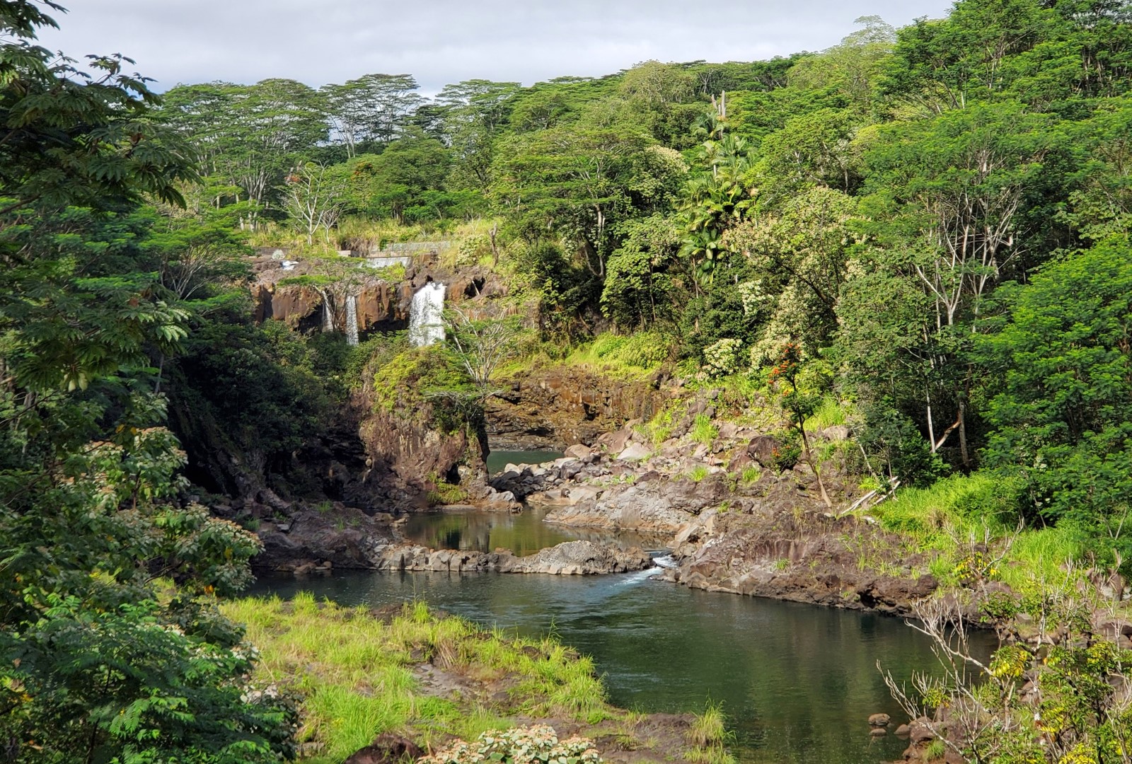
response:
[[[59,0],[42,43],[123,53],[178,83],[288,77],[312,86],[411,74],[424,93],[484,78],[593,76],[648,59],[752,61],[822,50],[878,15],[937,18],[950,0]]]

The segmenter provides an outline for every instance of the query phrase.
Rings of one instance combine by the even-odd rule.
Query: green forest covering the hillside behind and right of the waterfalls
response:
[[[197,188],[247,206],[263,241],[379,247],[391,224],[486,216],[470,261],[537,309],[535,357],[749,377],[806,402],[787,406],[804,458],[813,420],[849,426],[881,482],[1019,478],[1017,516],[1110,557],[1129,495],[1127,8],[963,0],[859,24],[770,62],[469,80],[431,102],[406,76],[197,85],[163,113],[200,156]],[[288,212],[300,191],[321,222]],[[790,343],[798,385],[772,389]]]

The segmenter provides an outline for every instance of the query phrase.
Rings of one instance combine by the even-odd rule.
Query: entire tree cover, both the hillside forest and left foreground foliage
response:
[[[365,362],[251,320],[252,240],[491,221],[540,352],[633,334],[753,394],[788,369],[798,422],[852,402],[878,480],[992,471],[1019,520],[1132,560],[1125,0],[960,0],[817,53],[432,98],[408,74],[158,96],[129,59],[37,46],[53,10],[0,0],[12,757],[291,753],[288,703],[246,686],[208,599],[257,541],[191,499],[181,446],[285,461]]]

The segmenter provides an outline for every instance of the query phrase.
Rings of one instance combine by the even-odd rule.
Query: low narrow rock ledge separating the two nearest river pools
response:
[[[401,544],[384,550],[376,566],[383,570],[444,570],[474,573],[547,573],[551,575],[595,575],[626,573],[652,567],[649,555],[640,548],[620,549],[594,541],[566,541],[526,557],[511,551],[478,552],[427,549]]]

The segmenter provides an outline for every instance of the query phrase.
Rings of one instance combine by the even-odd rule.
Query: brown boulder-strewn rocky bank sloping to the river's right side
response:
[[[831,429],[818,441],[843,439]],[[722,424],[710,444],[654,444],[629,426],[549,464],[508,465],[491,486],[546,507],[548,523],[664,534],[676,560],[664,577],[686,586],[894,615],[936,590],[926,557],[825,506],[808,465],[780,469],[779,446],[754,427]],[[851,504],[835,460],[823,480]]]

